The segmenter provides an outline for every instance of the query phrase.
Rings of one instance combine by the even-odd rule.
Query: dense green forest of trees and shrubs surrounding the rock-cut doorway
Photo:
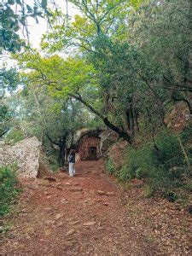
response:
[[[126,145],[121,166],[106,156],[108,172],[122,182],[143,180],[146,196],[189,206],[191,1],[67,0],[64,5],[9,0],[3,7],[1,140],[12,145],[38,137],[56,171],[65,165],[77,131],[106,128]],[[47,21],[38,49],[30,42],[29,18]],[[11,168],[0,171],[0,192],[10,201],[18,189],[9,194],[11,188],[4,192],[2,184]]]

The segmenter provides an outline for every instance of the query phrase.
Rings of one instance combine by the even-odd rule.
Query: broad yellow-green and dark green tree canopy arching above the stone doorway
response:
[[[48,32],[41,49],[27,48],[14,55],[28,102],[32,99],[40,119],[33,115],[32,105],[24,115],[27,122],[33,117],[39,122],[38,136],[51,131],[54,122],[62,127],[57,135],[53,132],[55,138],[83,127],[80,113],[81,120],[88,119],[86,124],[100,119],[99,125],[130,144],[143,132],[154,141],[176,102],[183,102],[191,113],[190,1],[68,3],[77,15],[49,9],[48,3],[38,5],[44,12],[34,15],[30,10],[35,18],[47,15]],[[17,79],[11,83],[14,88]],[[73,128],[72,116],[73,124],[79,124]]]

